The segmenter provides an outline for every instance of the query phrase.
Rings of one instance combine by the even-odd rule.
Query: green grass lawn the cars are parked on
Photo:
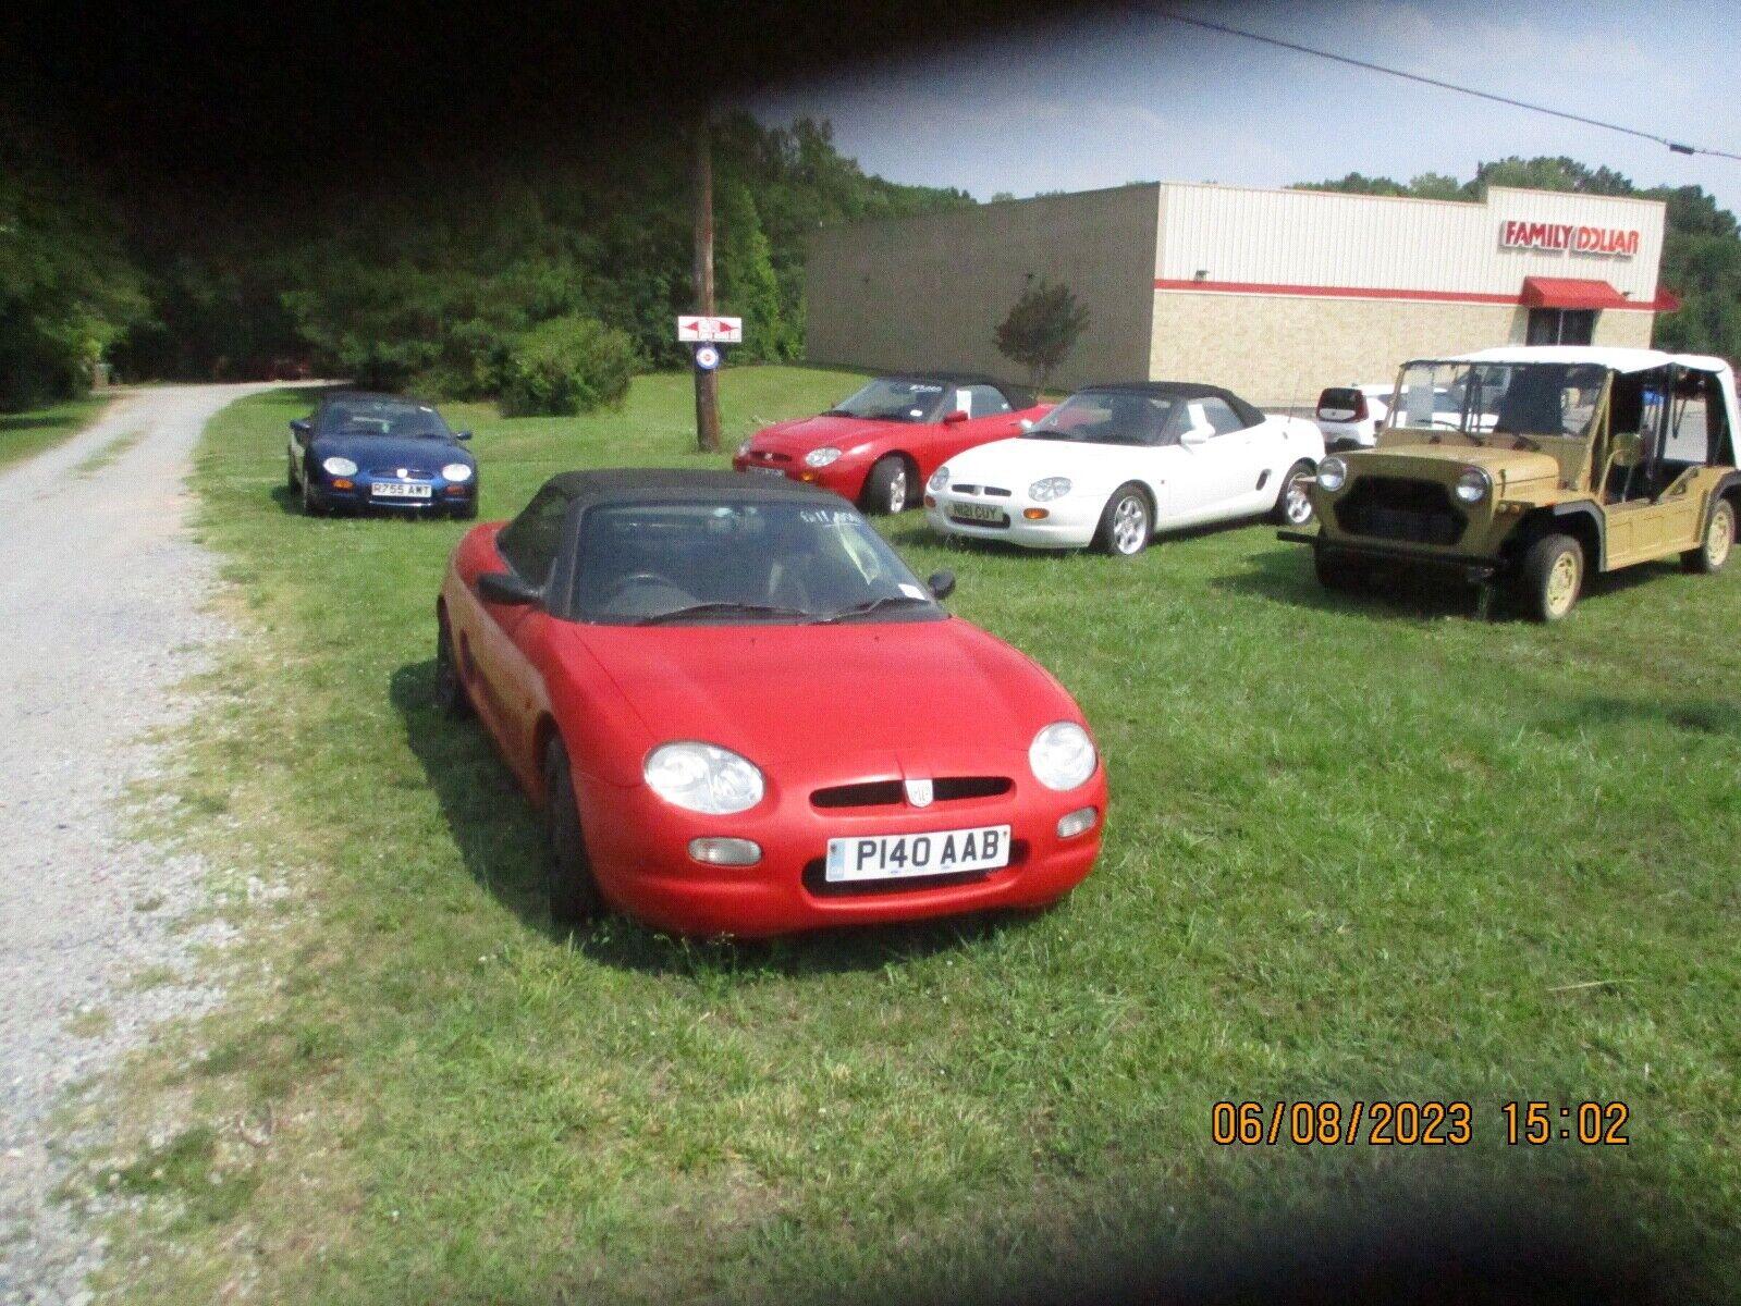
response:
[[[728,441],[848,388],[729,371]],[[569,937],[533,811],[428,703],[465,528],[289,510],[306,407],[239,402],[198,460],[247,634],[183,834],[287,893],[239,907],[228,1008],[134,1076],[185,1123],[110,1172],[153,1198],[113,1271],[134,1299],[870,1301],[1496,1188],[1732,1236],[1741,568],[1600,582],[1544,629],[1327,597],[1267,526],[1112,561],[945,549],[909,514],[884,533],[914,569],[954,568],[951,608],[1095,724],[1097,871],[1022,921]],[[447,416],[487,519],[562,468],[719,461],[691,411],[649,376],[620,414]],[[1224,1099],[1461,1099],[1475,1141],[1226,1148]],[[1630,1144],[1508,1148],[1508,1101],[1624,1102]]]

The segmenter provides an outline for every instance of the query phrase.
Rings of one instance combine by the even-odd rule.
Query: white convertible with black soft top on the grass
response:
[[[1213,385],[1095,385],[937,468],[924,515],[942,535],[1128,557],[1182,526],[1260,512],[1302,526],[1320,458],[1314,423],[1266,418]]]

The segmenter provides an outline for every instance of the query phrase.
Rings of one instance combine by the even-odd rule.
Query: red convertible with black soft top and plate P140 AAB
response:
[[[568,472],[472,529],[435,697],[545,810],[550,911],[682,933],[1039,907],[1093,865],[1069,693],[844,500],[729,472]]]

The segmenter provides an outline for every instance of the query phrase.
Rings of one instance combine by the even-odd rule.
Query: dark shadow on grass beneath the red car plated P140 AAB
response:
[[[434,630],[434,627],[432,627]],[[434,637],[434,634],[432,634]],[[770,940],[682,939],[625,916],[568,930],[550,919],[543,890],[543,822],[475,721],[453,721],[434,703],[435,660],[406,663],[388,697],[465,867],[528,930],[571,942],[595,961],[665,975],[770,979],[881,970],[945,953],[999,930],[1024,928],[1034,914],[971,914],[945,921],[823,930]]]

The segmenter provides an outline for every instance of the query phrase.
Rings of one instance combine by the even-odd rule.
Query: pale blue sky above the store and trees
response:
[[[766,124],[829,118],[891,181],[977,199],[1128,181],[1287,186],[1348,172],[1468,179],[1569,155],[1741,212],[1741,160],[1259,45],[1132,5],[865,64],[747,98]],[[1172,5],[1229,26],[1741,155],[1741,0],[1356,0]]]

